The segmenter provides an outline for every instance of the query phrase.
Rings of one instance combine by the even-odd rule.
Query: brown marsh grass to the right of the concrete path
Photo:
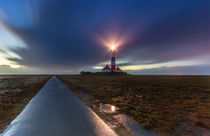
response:
[[[93,96],[88,105],[113,104],[158,135],[210,135],[210,76],[58,77],[76,94]]]

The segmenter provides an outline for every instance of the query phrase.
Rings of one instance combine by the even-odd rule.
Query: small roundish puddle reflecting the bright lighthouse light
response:
[[[102,104],[102,103],[99,104],[99,111],[100,112],[114,113],[117,110],[119,110],[119,108],[117,108],[114,105],[111,105],[111,104]]]

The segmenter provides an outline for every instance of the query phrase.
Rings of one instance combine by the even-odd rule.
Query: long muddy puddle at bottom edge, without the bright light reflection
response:
[[[142,128],[138,122],[127,115],[118,114],[113,117],[135,136],[156,136],[152,131]]]

